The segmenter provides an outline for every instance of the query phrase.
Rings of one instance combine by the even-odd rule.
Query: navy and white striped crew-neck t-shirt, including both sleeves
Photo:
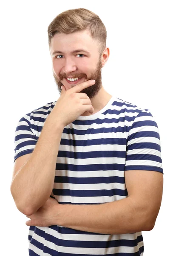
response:
[[[57,101],[56,101],[57,102]],[[32,153],[56,102],[23,116],[14,160]],[[127,198],[125,171],[163,173],[158,126],[147,109],[113,97],[102,110],[79,116],[62,132],[51,197],[59,204],[103,204]],[[29,227],[31,256],[142,256],[142,233],[99,234],[53,225]]]

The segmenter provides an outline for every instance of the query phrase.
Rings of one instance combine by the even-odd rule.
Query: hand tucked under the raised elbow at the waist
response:
[[[54,198],[48,198],[45,204],[34,214],[27,216],[31,220],[26,221],[27,226],[49,227],[57,225],[57,214],[61,205]],[[57,210],[58,209],[58,210]]]

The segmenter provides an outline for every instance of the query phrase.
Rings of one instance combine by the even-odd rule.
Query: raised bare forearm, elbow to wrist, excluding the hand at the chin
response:
[[[49,116],[48,116],[49,117]],[[11,184],[17,208],[24,214],[37,211],[51,195],[63,127],[46,119],[30,159]]]

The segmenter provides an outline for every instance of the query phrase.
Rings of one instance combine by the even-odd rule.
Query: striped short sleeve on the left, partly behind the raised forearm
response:
[[[18,157],[32,153],[37,143],[38,137],[31,128],[30,114],[23,116],[17,124],[14,138],[14,162]]]

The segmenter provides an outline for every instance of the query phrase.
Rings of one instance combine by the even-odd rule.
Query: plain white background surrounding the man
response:
[[[0,6],[1,251],[28,256],[26,218],[10,193],[19,119],[59,98],[47,28],[59,13],[86,8],[102,19],[110,57],[102,69],[108,93],[149,109],[159,127],[164,191],[155,227],[143,232],[144,256],[169,255],[170,1],[3,1]]]

